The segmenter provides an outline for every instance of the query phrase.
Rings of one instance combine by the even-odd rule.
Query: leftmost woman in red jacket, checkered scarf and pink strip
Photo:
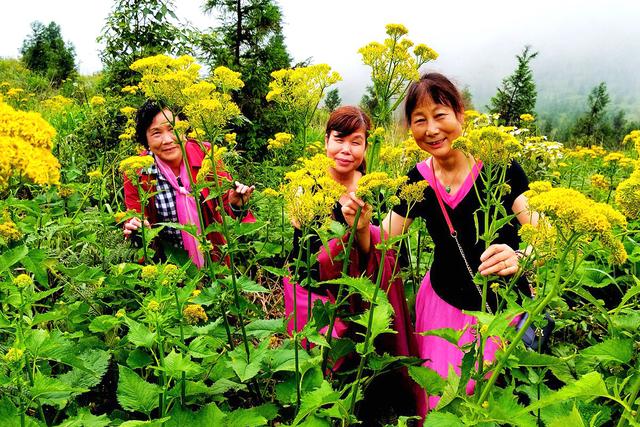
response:
[[[176,121],[185,119],[183,116],[176,117]],[[190,170],[183,159],[182,150],[177,144],[176,135],[171,122],[173,113],[160,108],[155,101],[147,101],[136,115],[136,138],[138,142],[145,146],[146,152],[142,155],[151,155],[154,164],[138,172],[142,190],[152,194],[145,207],[145,226],[161,222],[174,222],[180,224],[195,224],[199,227],[196,201],[190,193],[190,181],[187,173],[195,182],[198,171],[202,166],[202,161],[206,153],[202,151],[196,141],[187,140],[185,143],[185,153],[188,159]],[[209,144],[205,143],[205,146]],[[231,175],[224,171],[222,165],[218,165],[219,179],[232,181]],[[235,182],[234,188],[225,192],[222,196],[224,210],[231,217],[244,216],[243,222],[253,222],[255,218],[251,213],[247,213],[242,208],[247,203],[253,193],[254,186],[247,186]],[[155,194],[154,194],[155,193]],[[208,189],[204,189],[198,201],[201,204],[205,228],[214,222],[221,222],[222,217],[217,211],[217,199],[206,200],[209,195]],[[127,209],[141,212],[140,197],[137,187],[125,175],[124,178],[124,201]],[[142,226],[139,218],[134,217],[124,224],[124,235],[131,236]],[[199,230],[200,231],[200,230]],[[162,248],[181,248],[188,252],[191,260],[198,267],[204,265],[204,257],[196,239],[187,232],[180,231],[173,227],[165,227],[160,232],[160,251]],[[224,237],[218,232],[207,235],[213,245],[212,257],[219,258],[217,247],[224,243]],[[163,257],[163,254],[159,254]]]

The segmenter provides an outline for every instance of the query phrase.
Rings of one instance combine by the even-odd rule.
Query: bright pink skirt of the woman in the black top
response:
[[[474,340],[474,329],[470,325],[477,323],[476,318],[464,314],[461,310],[453,307],[440,298],[433,287],[429,273],[422,280],[422,285],[416,296],[416,334],[431,331],[434,329],[451,328],[461,331],[462,334],[458,344],[460,346]],[[424,366],[436,371],[442,378],[447,378],[449,365],[453,366],[456,374],[460,375],[460,365],[464,353],[448,341],[435,336],[416,335],[418,340],[418,355],[422,359],[428,359]],[[495,353],[500,343],[495,337],[489,337],[484,347],[484,360],[495,360]],[[475,388],[475,381],[467,383],[467,394],[472,394]],[[416,396],[418,414],[424,417],[427,412],[434,409],[440,400],[440,396],[429,394],[429,390],[421,390]]]

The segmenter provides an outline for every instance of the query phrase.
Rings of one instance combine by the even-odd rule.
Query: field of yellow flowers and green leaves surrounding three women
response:
[[[360,53],[376,85],[401,88],[437,54],[425,45],[411,50],[402,26],[388,26],[387,34]],[[394,61],[402,66],[389,74]],[[342,189],[326,174],[318,142],[327,115],[319,104],[340,79],[335,71],[320,64],[273,73],[267,99],[291,122],[269,140],[266,160],[251,164],[228,132],[242,113],[233,102],[244,84],[239,73],[219,67],[202,76],[193,58],[163,55],[131,69],[139,85],[84,101],[38,99],[0,84],[0,424],[349,425],[360,419],[372,379],[403,366],[442,396],[427,426],[640,424],[640,130],[618,151],[565,147],[540,134],[529,114],[521,117],[525,126],[507,128],[497,117],[466,112],[458,146],[494,171],[516,159],[532,182],[530,204],[543,217],[521,235],[534,248],[527,274],[537,295],[519,306],[508,284],[492,287],[507,303],[495,314],[475,313],[478,335],[499,336],[504,346],[492,364],[474,363],[475,348],[467,348],[462,375],[445,381],[420,360],[376,352],[375,338],[389,332],[390,305],[379,282],[366,278],[333,281],[343,298],[316,304],[307,327],[286,333],[282,278],[317,286],[301,277],[316,261],[294,262],[303,257],[291,253],[291,221],[325,241],[347,231],[329,220]],[[389,120],[403,96],[381,93],[390,110],[377,123]],[[256,222],[224,217],[215,230],[227,242],[223,261],[208,258],[202,269],[179,257],[154,263],[158,228],[145,230],[137,247],[122,236],[122,222],[139,215],[124,209],[123,174],[135,181],[148,161],[138,155],[133,119],[145,97],[182,106],[190,121],[176,123],[176,134],[212,143],[204,175],[223,160],[257,185],[249,206]],[[377,217],[398,202],[396,194],[410,203],[421,197],[424,188],[404,178],[421,159],[400,126],[371,132],[370,173],[359,195]],[[503,191],[499,177],[491,185]],[[212,197],[230,185],[198,181],[206,184],[194,191],[207,186]],[[433,249],[424,224],[382,243],[385,251],[398,246],[408,261],[396,274],[411,306]],[[332,339],[323,328],[333,328],[356,294],[367,303],[355,320],[363,336]],[[507,327],[522,311],[538,330],[545,316],[555,320],[545,351],[526,349],[522,334]],[[451,332],[441,334],[457,342]],[[324,369],[327,359],[348,353],[358,356],[357,372]],[[465,392],[469,378],[478,380],[474,395]],[[388,425],[415,421],[387,418]]]

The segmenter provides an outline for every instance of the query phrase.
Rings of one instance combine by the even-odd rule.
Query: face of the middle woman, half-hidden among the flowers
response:
[[[325,136],[327,157],[335,160],[334,171],[348,174],[356,171],[364,161],[367,133],[360,128],[349,135],[332,130]]]

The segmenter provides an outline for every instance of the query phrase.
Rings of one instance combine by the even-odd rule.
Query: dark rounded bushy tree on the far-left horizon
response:
[[[36,21],[31,24],[31,30],[31,35],[24,40],[20,49],[22,62],[31,71],[59,86],[76,72],[74,47],[64,42],[60,26],[55,22],[44,26]]]

